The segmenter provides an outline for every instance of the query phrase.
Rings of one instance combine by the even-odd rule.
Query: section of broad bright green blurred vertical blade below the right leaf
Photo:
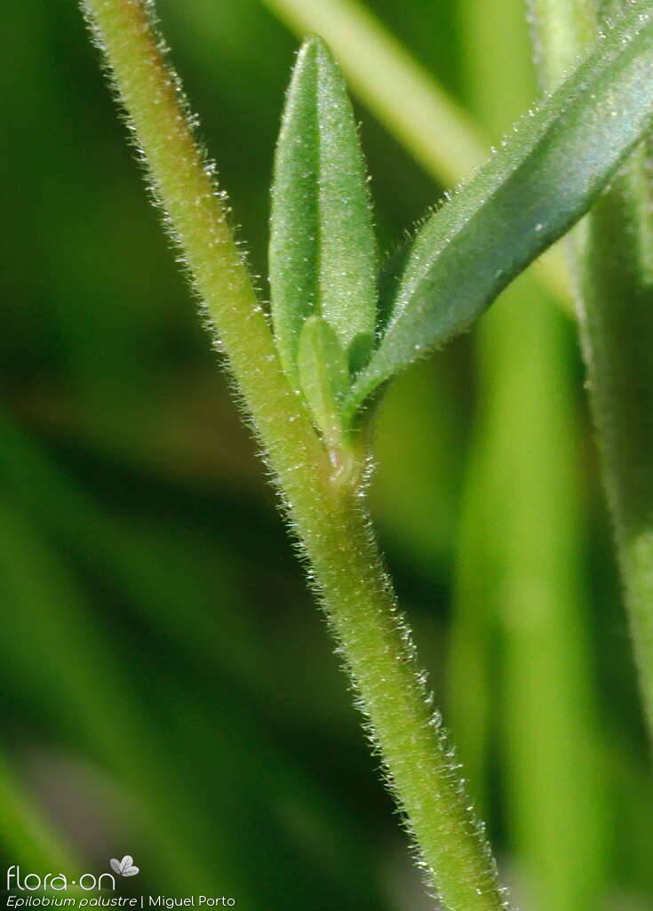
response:
[[[529,291],[525,277],[516,282],[479,333],[485,426],[474,450],[483,474],[472,477],[478,486],[469,496],[470,505],[483,498],[475,519],[485,547],[475,543],[475,565],[461,566],[460,583],[464,598],[485,582],[486,599],[475,616],[467,599],[455,641],[467,633],[463,655],[472,653],[482,679],[500,656],[507,823],[529,904],[594,911],[606,893],[606,782],[582,572],[570,340],[560,314]],[[484,653],[479,630],[490,625],[488,609],[500,638],[498,648],[486,640]],[[463,723],[474,722],[476,699],[472,711],[458,711]],[[482,751],[479,736],[472,733],[473,745]]]

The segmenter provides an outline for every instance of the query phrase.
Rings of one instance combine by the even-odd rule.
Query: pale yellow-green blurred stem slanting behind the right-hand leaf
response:
[[[298,35],[325,39],[362,103],[435,180],[455,185],[486,158],[487,139],[464,109],[355,0],[263,2]],[[570,312],[560,251],[546,251],[536,271]]]

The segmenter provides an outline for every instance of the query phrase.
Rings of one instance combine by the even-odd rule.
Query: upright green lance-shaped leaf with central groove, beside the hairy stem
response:
[[[352,105],[329,49],[311,37],[298,56],[281,123],[270,226],[274,335],[293,380],[301,325],[311,314],[331,325],[347,356],[357,336],[374,332],[375,273]]]

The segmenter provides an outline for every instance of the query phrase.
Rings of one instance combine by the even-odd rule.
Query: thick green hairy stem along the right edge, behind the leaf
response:
[[[621,0],[599,4],[618,14]],[[546,87],[597,35],[590,0],[533,0]],[[555,26],[555,24],[557,25]],[[560,36],[566,31],[566,41]],[[653,215],[646,144],[628,159],[572,247],[580,334],[607,498],[653,740]]]

